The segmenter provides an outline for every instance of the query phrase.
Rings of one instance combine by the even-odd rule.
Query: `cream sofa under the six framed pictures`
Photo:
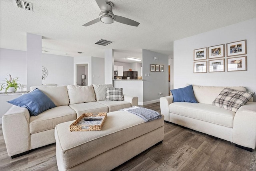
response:
[[[198,103],[173,103],[172,95],[160,97],[164,120],[231,141],[252,151],[256,146],[256,102],[250,99],[236,112],[212,105],[224,88],[193,85]],[[229,88],[246,91],[242,86]]]

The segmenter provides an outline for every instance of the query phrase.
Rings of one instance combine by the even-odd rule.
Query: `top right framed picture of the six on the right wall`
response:
[[[227,57],[246,54],[246,40],[231,42],[227,44]]]

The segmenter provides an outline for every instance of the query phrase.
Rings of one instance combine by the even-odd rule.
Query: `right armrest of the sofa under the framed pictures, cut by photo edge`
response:
[[[256,147],[256,102],[241,106],[234,117],[233,143],[255,149]]]

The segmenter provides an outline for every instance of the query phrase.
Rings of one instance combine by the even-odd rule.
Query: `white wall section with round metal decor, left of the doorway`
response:
[[[73,84],[74,58],[52,54],[42,54],[42,66],[48,70],[48,76],[42,84]]]

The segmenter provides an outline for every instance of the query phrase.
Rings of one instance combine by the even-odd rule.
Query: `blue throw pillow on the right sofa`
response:
[[[198,103],[194,95],[192,85],[188,85],[184,88],[172,89],[173,102],[190,102]]]

